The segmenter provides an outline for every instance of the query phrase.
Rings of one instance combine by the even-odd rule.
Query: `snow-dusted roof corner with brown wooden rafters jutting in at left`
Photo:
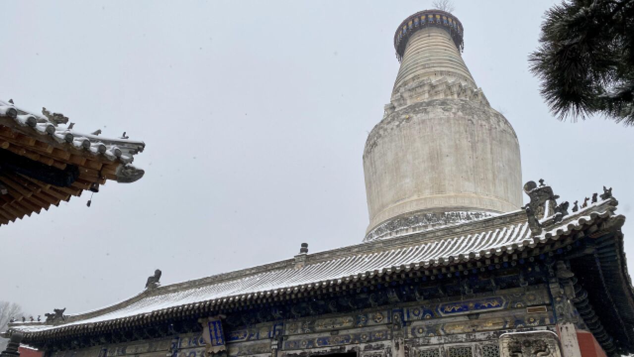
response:
[[[98,191],[107,180],[134,182],[143,170],[131,165],[145,143],[72,130],[73,123],[0,100],[0,224]],[[125,135],[125,133],[124,133]]]

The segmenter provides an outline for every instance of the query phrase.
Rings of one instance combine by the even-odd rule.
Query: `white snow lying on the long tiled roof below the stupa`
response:
[[[154,316],[157,316],[156,318],[161,318],[161,316],[167,316],[174,311],[188,311],[195,308],[198,309],[198,307],[201,306],[205,306],[209,309],[216,309],[224,306],[227,303],[252,300],[259,297],[281,295],[281,298],[285,299],[287,297],[285,295],[291,293],[304,292],[306,290],[315,289],[322,290],[324,288],[327,288],[328,286],[339,285],[341,283],[354,283],[359,280],[367,280],[376,276],[382,276],[384,274],[392,274],[399,273],[401,271],[420,269],[427,270],[434,267],[460,264],[468,260],[484,259],[486,257],[500,256],[502,254],[513,254],[521,252],[525,248],[534,248],[537,245],[545,244],[547,241],[550,240],[557,240],[560,236],[571,233],[578,229],[582,229],[583,226],[587,226],[588,224],[592,224],[598,217],[610,217],[614,211],[615,202],[616,200],[614,199],[608,199],[606,201],[600,201],[599,203],[590,205],[587,208],[583,208],[579,210],[579,212],[573,212],[573,214],[569,214],[564,217],[564,220],[562,222],[558,224],[552,224],[550,227],[545,227],[544,232],[537,236],[533,236],[533,234],[531,234],[531,231],[528,229],[525,219],[517,220],[517,217],[515,217],[515,219],[513,220],[514,222],[507,222],[508,224],[501,229],[493,228],[489,229],[488,231],[479,231],[477,234],[474,230],[465,229],[462,231],[462,235],[452,235],[446,237],[446,240],[452,239],[453,243],[448,241],[448,243],[441,244],[441,242],[436,239],[418,239],[418,246],[410,246],[409,248],[387,248],[381,245],[382,248],[384,248],[381,252],[349,252],[349,254],[347,254],[348,262],[346,264],[351,264],[351,262],[354,262],[355,264],[360,264],[360,266],[358,266],[358,270],[349,270],[346,273],[346,269],[341,269],[340,267],[337,267],[337,269],[339,269],[337,270],[337,274],[339,275],[337,275],[336,277],[324,274],[322,275],[322,277],[326,276],[325,279],[318,279],[317,276],[319,275],[314,275],[313,273],[321,274],[319,272],[320,267],[327,269],[336,265],[337,262],[346,262],[346,259],[343,257],[333,258],[331,260],[321,262],[309,262],[306,267],[302,268],[286,267],[284,269],[276,269],[275,271],[271,271],[271,273],[278,274],[277,271],[283,273],[283,270],[287,270],[288,274],[292,274],[295,276],[293,279],[286,282],[290,283],[291,285],[281,285],[279,282],[276,283],[275,281],[271,281],[271,283],[264,281],[265,285],[258,285],[257,282],[254,283],[254,281],[247,281],[248,279],[257,278],[256,276],[254,276],[254,274],[247,274],[247,276],[243,276],[243,280],[235,280],[235,283],[239,284],[240,281],[247,281],[251,283],[254,288],[257,287],[256,290],[249,290],[249,287],[247,286],[246,290],[233,289],[235,292],[240,293],[227,293],[227,295],[223,295],[225,294],[225,292],[223,292],[222,290],[209,290],[214,286],[216,286],[217,288],[222,288],[222,286],[219,285],[223,281],[213,281],[213,278],[221,278],[223,276],[227,276],[228,274],[235,274],[236,272],[218,274],[217,276],[211,276],[209,278],[203,278],[201,280],[187,281],[185,283],[162,286],[151,291],[146,290],[146,292],[136,295],[135,298],[140,297],[140,299],[136,299],[137,301],[148,299],[146,300],[145,304],[141,304],[137,307],[133,306],[133,300],[135,300],[135,298],[133,298],[112,306],[115,307],[119,305],[120,307],[122,307],[122,309],[120,309],[119,311],[117,311],[117,309],[108,309],[110,310],[109,312],[105,311],[106,309],[95,310],[94,314],[92,314],[93,316],[91,316],[90,318],[87,318],[88,316],[86,316],[86,313],[72,315],[75,318],[87,318],[87,320],[75,320],[59,326],[24,326],[18,327],[18,329],[24,332],[32,333],[53,333],[52,330],[58,332],[68,332],[70,331],[69,329],[72,329],[72,333],[75,333],[82,328],[101,328],[113,323],[117,325],[119,325],[120,323],[135,323],[135,321],[141,321],[138,323],[143,323],[143,321],[149,321],[149,319],[155,320]],[[513,212],[513,215],[517,215],[517,212]],[[475,222],[470,222],[470,224],[473,223]],[[491,234],[493,234],[493,236],[497,236],[497,238],[495,239],[495,245],[487,243],[491,242],[491,240],[488,239]],[[462,239],[463,243],[460,243],[460,241],[456,239]],[[465,241],[464,239],[467,239],[467,241]],[[360,245],[356,246],[365,245],[367,245],[367,243],[361,243]],[[411,256],[411,252],[416,252],[416,249],[418,249],[418,252],[420,252],[422,250],[421,246],[429,246],[432,249],[439,249],[439,247],[446,247],[448,245],[452,245],[454,248],[452,248],[453,251],[445,252],[445,255],[437,255],[428,260],[407,260],[410,257],[415,258]],[[482,248],[472,249],[474,245],[479,245]],[[467,246],[467,248],[469,249],[464,249],[465,246]],[[460,250],[464,249],[464,251],[457,252],[455,247],[459,247],[457,249]],[[339,248],[338,250],[331,250],[327,252],[337,252],[340,249],[346,248]],[[444,250],[444,248],[442,250]],[[466,253],[467,251],[469,251],[469,253]],[[315,253],[314,255],[319,255],[327,252]],[[401,255],[395,256],[394,252],[400,252]],[[403,258],[403,255],[407,255],[406,259]],[[307,255],[307,257],[309,256],[310,255]],[[429,255],[427,256],[429,257]],[[370,257],[370,260],[368,260],[368,257]],[[386,257],[392,257],[389,260],[389,264],[383,263]],[[396,264],[400,260],[408,262],[406,262],[405,264]],[[376,264],[374,265],[374,267],[370,267],[368,264],[366,264],[368,261],[370,261],[370,263],[372,264]],[[278,262],[277,264],[286,264],[287,262],[294,262],[294,260],[283,260],[282,262]],[[377,262],[382,265],[377,265]],[[388,263],[388,261],[385,261],[385,263]],[[270,266],[270,264],[260,267],[266,266]],[[252,268],[252,270],[256,270],[257,268],[259,267]],[[306,273],[305,269],[312,270],[310,274],[307,274],[304,278],[302,278],[302,276],[297,277],[297,274],[301,273],[302,269],[304,269],[304,273]],[[351,267],[351,269],[356,268]],[[315,270],[317,270],[317,272],[315,272]],[[341,272],[339,273],[339,271]],[[264,275],[262,276],[266,277]],[[203,281],[205,282],[205,284],[202,284]],[[226,281],[227,280],[224,280],[224,282]],[[181,288],[185,288],[185,286],[183,286],[185,284],[188,285],[186,287],[186,290],[180,290]]]

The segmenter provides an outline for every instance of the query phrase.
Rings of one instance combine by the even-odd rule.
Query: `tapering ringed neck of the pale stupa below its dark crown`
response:
[[[438,27],[417,30],[408,39],[392,95],[427,80],[455,80],[477,88],[449,32]]]

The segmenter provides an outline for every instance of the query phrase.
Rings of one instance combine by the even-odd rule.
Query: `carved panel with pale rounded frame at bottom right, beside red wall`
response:
[[[500,357],[561,357],[559,338],[552,331],[503,333]]]

